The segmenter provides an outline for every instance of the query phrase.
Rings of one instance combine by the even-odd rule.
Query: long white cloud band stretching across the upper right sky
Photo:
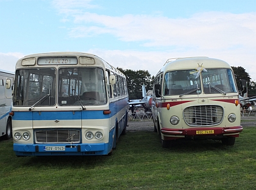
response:
[[[73,38],[108,33],[121,41],[140,41],[145,47],[176,46],[201,49],[255,47],[256,13],[197,13],[191,18],[163,16],[107,16],[96,13],[73,15]]]

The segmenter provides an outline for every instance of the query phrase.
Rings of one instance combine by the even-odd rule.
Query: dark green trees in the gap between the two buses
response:
[[[117,68],[126,75],[129,99],[142,98],[142,85],[145,84],[146,91],[152,89],[152,78],[148,70],[131,70]]]

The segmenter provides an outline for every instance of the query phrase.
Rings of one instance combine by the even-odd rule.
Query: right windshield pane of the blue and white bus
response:
[[[95,67],[59,69],[58,103],[60,106],[107,103],[103,69]]]

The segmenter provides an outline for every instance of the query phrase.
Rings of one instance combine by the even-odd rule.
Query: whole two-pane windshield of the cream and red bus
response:
[[[236,92],[235,80],[230,69],[207,69],[201,72],[201,78],[194,70],[175,70],[165,74],[163,95],[194,95],[202,92],[233,93]]]

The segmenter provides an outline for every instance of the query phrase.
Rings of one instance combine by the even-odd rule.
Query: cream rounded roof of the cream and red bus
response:
[[[229,68],[230,65],[222,61],[221,59],[208,58],[206,56],[188,57],[188,58],[171,58],[166,61],[160,72],[166,72],[167,70],[188,70],[197,69],[202,66],[205,69],[210,68]],[[158,74],[157,73],[157,74]]]

